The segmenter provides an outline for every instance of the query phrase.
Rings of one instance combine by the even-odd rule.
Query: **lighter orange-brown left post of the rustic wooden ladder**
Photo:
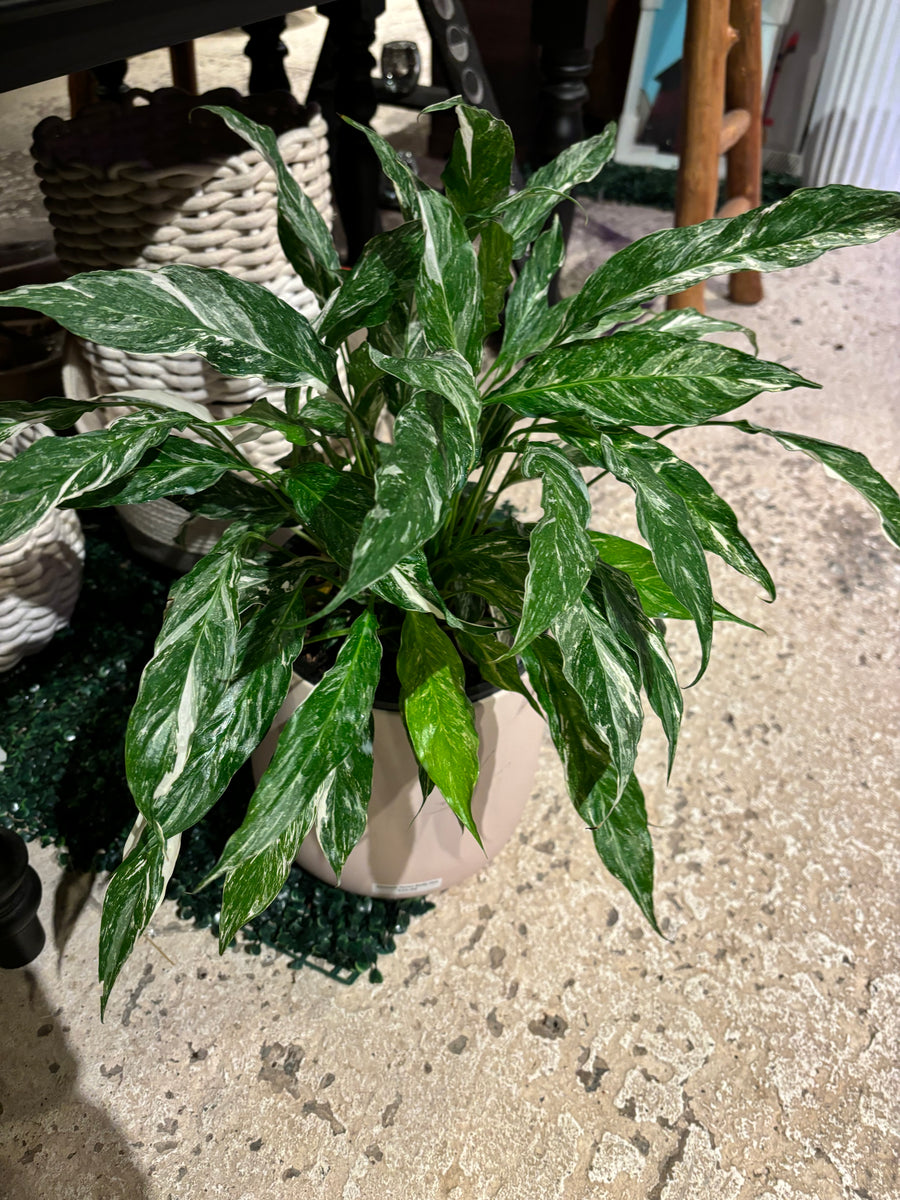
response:
[[[707,221],[719,192],[719,138],[725,110],[725,61],[734,40],[728,0],[688,0],[682,60],[682,124],[676,224]],[[703,312],[703,284],[668,296],[668,308]]]

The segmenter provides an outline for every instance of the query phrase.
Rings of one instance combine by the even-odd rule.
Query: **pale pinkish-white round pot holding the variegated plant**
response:
[[[269,734],[253,755],[258,779],[275,751],[288,716],[312,688],[298,679]],[[340,883],[314,833],[298,863],[344,892],[394,899],[452,887],[484,868],[505,846],[532,793],[544,737],[544,719],[523,696],[496,691],[475,701],[481,770],[472,811],[484,851],[434,788],[422,804],[419,772],[400,713],[376,709],[374,770],[368,822]]]

